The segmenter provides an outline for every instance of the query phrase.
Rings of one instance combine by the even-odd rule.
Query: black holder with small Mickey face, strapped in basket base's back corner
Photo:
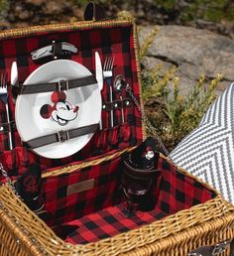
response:
[[[137,209],[154,209],[161,172],[158,170],[159,153],[153,138],[147,138],[123,161],[122,188],[127,202],[126,215]]]

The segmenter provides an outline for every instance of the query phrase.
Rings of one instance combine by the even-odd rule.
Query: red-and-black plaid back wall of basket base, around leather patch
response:
[[[121,165],[121,158],[116,158],[71,174],[43,180],[42,192],[46,209],[53,215],[49,224],[54,225],[55,219],[64,223],[117,203],[121,197]],[[94,185],[90,190],[67,194],[69,186],[92,179]]]

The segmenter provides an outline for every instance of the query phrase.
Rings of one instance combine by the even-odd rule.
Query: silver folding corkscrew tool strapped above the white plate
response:
[[[68,44],[65,42],[62,42],[60,44],[61,44],[62,51],[67,51],[67,52],[70,52],[73,54],[76,54],[78,51],[77,48],[71,44]],[[33,61],[37,61],[37,60],[45,58],[45,57],[53,56],[53,45],[35,50],[31,53],[31,55],[32,55]]]

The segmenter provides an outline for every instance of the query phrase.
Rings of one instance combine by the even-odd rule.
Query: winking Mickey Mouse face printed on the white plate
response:
[[[51,118],[58,125],[64,126],[77,117],[79,107],[73,106],[70,102],[66,101],[64,92],[53,92],[51,99],[54,103],[53,105],[45,104],[40,109],[40,114],[43,118]]]

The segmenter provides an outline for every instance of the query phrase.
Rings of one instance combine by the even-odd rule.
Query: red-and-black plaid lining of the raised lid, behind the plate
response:
[[[14,61],[17,61],[19,80],[20,82],[24,82],[29,74],[40,66],[40,64],[36,64],[32,61],[30,53],[36,49],[51,45],[54,40],[74,45],[78,49],[78,54],[70,57],[70,60],[85,65],[94,75],[94,56],[96,51],[100,55],[102,64],[104,64],[106,58],[113,57],[115,60],[114,76],[122,74],[126,81],[132,86],[134,93],[139,100],[139,81],[137,76],[132,25],[121,25],[118,27],[108,26],[106,28],[95,29],[85,28],[50,33],[42,32],[30,36],[16,37],[14,39],[3,39],[0,41],[0,72],[7,71],[10,73],[11,64]],[[10,79],[10,75],[8,75],[8,77]],[[8,82],[10,82],[10,80]],[[105,81],[101,93],[103,102],[107,102],[109,100],[109,87]],[[124,92],[123,98],[126,98],[127,96],[128,95]],[[113,99],[119,99],[117,93],[114,93]],[[10,88],[9,108],[10,119],[14,120],[15,104],[12,100]],[[126,107],[124,111],[126,123],[122,125],[123,128],[119,127],[121,126],[121,111],[116,109],[114,111],[114,125],[116,127],[112,129],[110,129],[109,112],[102,111],[104,132],[97,132],[96,136],[93,136],[90,142],[81,151],[65,159],[49,160],[27,151],[27,149],[22,148],[20,136],[17,130],[15,130],[13,132],[13,145],[16,147],[16,150],[12,152],[11,157],[8,156],[7,159],[10,163],[7,163],[5,168],[7,169],[7,167],[14,166],[14,170],[8,170],[9,174],[13,173],[17,175],[17,170],[19,170],[18,174],[20,175],[24,172],[24,168],[22,169],[21,166],[25,166],[28,158],[31,160],[34,159],[35,163],[45,170],[74,161],[86,160],[94,155],[106,154],[110,150],[134,146],[142,140],[140,113],[134,104],[131,104],[130,107]],[[5,106],[2,102],[0,102],[0,123],[1,122],[6,122]],[[127,137],[125,135],[127,135]],[[98,138],[99,136],[100,138]],[[124,141],[121,141],[122,138],[124,138]],[[108,145],[106,145],[106,143]],[[17,147],[20,147],[21,149],[17,149]],[[5,158],[5,152],[8,151],[8,149],[8,134],[0,133],[0,152],[3,154],[1,158]],[[17,166],[18,162],[14,159],[18,153],[23,157],[20,167]]]

